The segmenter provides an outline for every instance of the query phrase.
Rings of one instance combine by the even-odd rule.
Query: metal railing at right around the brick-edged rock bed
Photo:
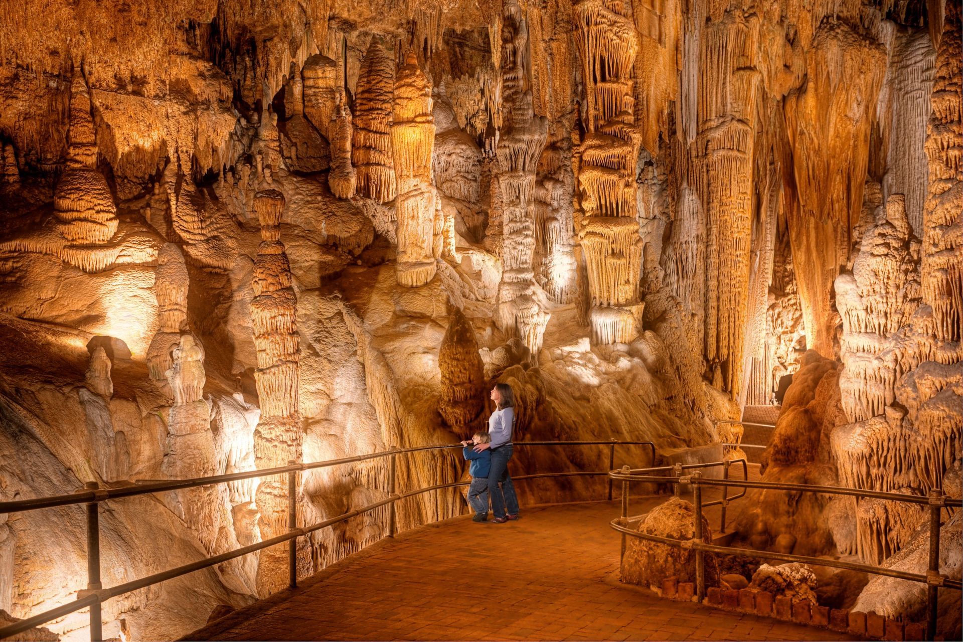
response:
[[[685,468],[697,469],[697,468],[707,468],[712,466],[717,466],[718,462],[713,464],[694,464]],[[843,486],[816,486],[811,484],[791,484],[791,483],[781,483],[772,481],[738,481],[731,479],[711,479],[703,477],[700,471],[696,471],[692,475],[652,475],[653,473],[662,473],[668,470],[673,470],[672,467],[661,467],[661,468],[647,468],[647,469],[636,469],[632,470],[628,467],[624,467],[621,470],[613,470],[609,472],[609,478],[613,481],[622,482],[622,515],[614,520],[612,520],[611,526],[613,529],[622,533],[622,555],[625,555],[625,538],[635,537],[638,539],[648,540],[650,542],[658,542],[660,544],[665,544],[675,548],[690,549],[695,551],[695,591],[698,599],[701,601],[705,597],[706,592],[706,576],[705,576],[705,553],[715,552],[727,555],[734,555],[737,557],[748,557],[752,559],[777,559],[785,562],[801,562],[804,564],[812,564],[816,566],[829,566],[838,569],[847,569],[850,571],[860,571],[863,573],[870,573],[877,576],[886,576],[889,578],[907,579],[909,581],[920,582],[926,584],[926,633],[927,639],[933,639],[936,633],[936,605],[938,598],[938,590],[942,586],[944,588],[951,588],[955,590],[961,590],[963,588],[963,583],[956,579],[950,579],[946,576],[940,575],[939,571],[939,553],[940,553],[940,509],[944,507],[960,507],[963,506],[963,501],[954,500],[946,496],[942,490],[933,489],[929,492],[928,497],[919,497],[913,495],[902,495],[901,493],[884,493],[881,491],[872,491],[862,488],[846,488]],[[678,468],[674,469],[678,471]],[[659,535],[650,535],[648,533],[639,532],[629,527],[629,484],[635,482],[644,483],[670,483],[675,485],[676,494],[678,490],[683,485],[691,485],[692,487],[692,501],[695,504],[695,513],[693,515],[693,533],[694,537],[690,540],[677,540],[669,537],[662,537]],[[836,559],[826,559],[823,557],[810,557],[808,555],[792,555],[788,553],[781,552],[771,552],[771,551],[760,551],[758,549],[737,549],[729,546],[716,546],[715,544],[706,544],[703,542],[703,526],[702,526],[702,510],[706,506],[714,505],[717,501],[713,502],[703,502],[702,501],[702,487],[703,486],[717,486],[723,489],[723,493],[726,489],[736,486],[742,488],[742,494],[745,494],[745,489],[748,488],[768,488],[772,490],[784,490],[784,491],[794,491],[797,493],[819,493],[820,495],[844,495],[850,497],[867,497],[875,498],[879,500],[887,501],[906,501],[909,503],[924,504],[929,507],[929,567],[926,574],[919,573],[906,573],[903,571],[896,571],[893,569],[883,568],[881,566],[873,566],[872,564],[861,564],[857,562],[847,562],[844,560]],[[724,504],[723,504],[724,505]],[[725,517],[723,516],[723,525]]]

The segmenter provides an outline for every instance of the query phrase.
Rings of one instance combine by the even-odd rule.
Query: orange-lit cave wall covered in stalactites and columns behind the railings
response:
[[[0,24],[0,427],[61,481],[0,460],[0,497],[454,442],[494,381],[519,439],[699,446],[807,348],[836,365],[786,430],[819,445],[772,470],[936,487],[960,448],[959,47],[953,0],[27,0]],[[462,478],[453,452],[403,460],[400,487]],[[386,475],[302,475],[301,520]],[[171,494],[151,520],[222,552],[283,528],[282,490]],[[399,526],[464,510],[430,493]],[[300,571],[385,519],[313,533]],[[17,617],[69,592],[14,564],[35,524],[0,524]],[[880,537],[839,548],[900,545]],[[276,588],[280,555],[219,567],[193,611],[105,612],[193,629]]]

